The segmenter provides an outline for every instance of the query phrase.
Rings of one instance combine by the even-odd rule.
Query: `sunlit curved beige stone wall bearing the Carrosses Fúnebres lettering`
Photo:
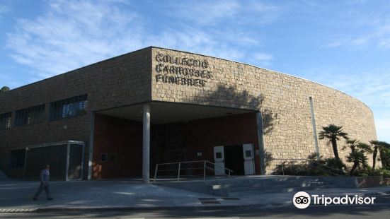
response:
[[[170,49],[153,48],[151,57],[152,100],[260,110],[263,114],[264,147],[273,158],[299,159],[314,153],[309,97],[314,101],[318,132],[322,126],[336,124],[343,126],[350,138],[365,143],[377,139],[369,107],[338,90],[248,64]],[[208,67],[191,65],[190,59],[205,60]],[[175,66],[176,69],[206,69],[212,77],[205,79],[204,87],[167,83],[157,76],[165,73],[168,76],[199,77],[185,76],[174,68],[164,72],[158,69],[159,64]],[[342,148],[343,144],[343,141],[338,142],[338,148]],[[319,150],[323,158],[333,158],[328,141],[319,140]],[[349,150],[339,150],[340,158],[345,158],[348,153]]]

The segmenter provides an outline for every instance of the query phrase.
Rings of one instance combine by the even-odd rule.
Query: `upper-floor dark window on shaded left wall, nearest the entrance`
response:
[[[86,112],[87,95],[50,103],[50,120],[75,117]]]

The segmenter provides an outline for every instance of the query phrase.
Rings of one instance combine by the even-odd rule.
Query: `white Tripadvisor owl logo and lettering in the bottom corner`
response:
[[[312,199],[311,199],[312,198]],[[358,195],[354,196],[342,196],[342,197],[328,197],[324,195],[309,195],[304,191],[299,191],[292,198],[292,203],[297,208],[307,208],[309,207],[311,201],[314,205],[323,205],[327,206],[329,204],[334,205],[373,205],[376,197],[359,197]]]

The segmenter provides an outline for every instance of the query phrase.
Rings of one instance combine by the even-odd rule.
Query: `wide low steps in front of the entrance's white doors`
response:
[[[354,188],[352,177],[253,176],[224,179],[156,182],[161,186],[214,196],[236,197],[313,189]]]

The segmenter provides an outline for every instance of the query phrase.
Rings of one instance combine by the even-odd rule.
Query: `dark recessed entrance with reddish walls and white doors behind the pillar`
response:
[[[254,174],[253,157],[246,165],[243,159],[248,153],[239,143],[250,143],[247,150],[253,152],[251,142],[258,141],[255,112],[167,102],[151,102],[149,105],[151,174],[154,174],[157,164],[208,160],[215,166],[214,171],[207,170],[206,174],[224,175],[225,147],[226,167],[233,169],[234,174]],[[131,105],[96,112],[93,179],[139,177],[142,174],[142,110],[142,105]],[[177,166],[172,169],[175,168]],[[247,172],[246,168],[252,172]],[[197,171],[188,169],[194,175],[198,174]],[[174,174],[178,174],[177,171],[159,172],[159,175]]]

